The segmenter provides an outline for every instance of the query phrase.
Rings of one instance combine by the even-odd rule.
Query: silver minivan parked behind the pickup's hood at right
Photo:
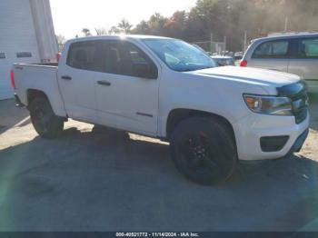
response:
[[[305,79],[309,91],[318,92],[318,34],[280,35],[253,40],[241,66],[297,74]]]

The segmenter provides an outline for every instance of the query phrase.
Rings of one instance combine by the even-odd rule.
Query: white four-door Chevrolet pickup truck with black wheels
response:
[[[160,138],[170,142],[178,170],[196,183],[229,178],[239,160],[297,152],[308,134],[299,76],[216,67],[171,38],[70,40],[58,66],[14,64],[11,80],[42,137],[57,137],[72,118]]]

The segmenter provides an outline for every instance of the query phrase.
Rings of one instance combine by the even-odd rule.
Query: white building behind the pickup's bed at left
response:
[[[13,63],[55,62],[57,52],[49,0],[0,1],[0,100],[13,97]]]

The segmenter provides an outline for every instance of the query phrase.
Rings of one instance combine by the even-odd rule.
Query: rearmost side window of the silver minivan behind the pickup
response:
[[[288,58],[289,41],[270,41],[257,46],[253,58]]]

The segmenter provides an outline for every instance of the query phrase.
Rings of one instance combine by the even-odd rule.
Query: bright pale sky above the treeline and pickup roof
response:
[[[155,12],[171,16],[189,10],[196,0],[50,0],[56,35],[66,39],[81,35],[83,28],[110,28],[123,18],[137,25]]]

